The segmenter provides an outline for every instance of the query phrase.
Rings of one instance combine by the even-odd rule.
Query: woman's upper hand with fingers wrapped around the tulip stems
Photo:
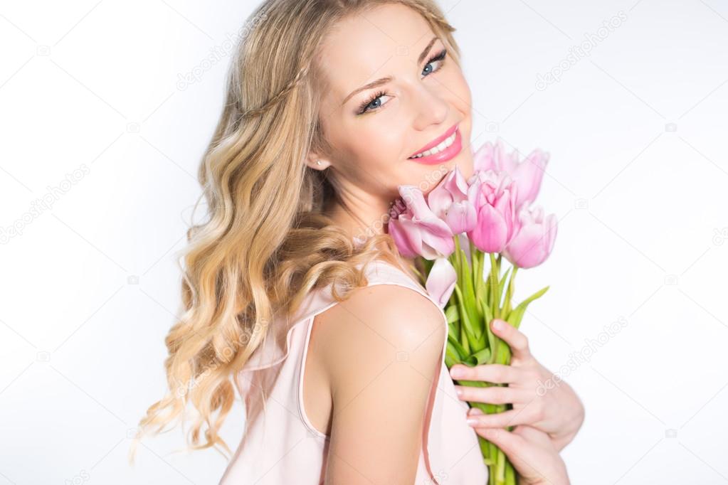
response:
[[[503,325],[499,326],[498,322]],[[582,402],[571,386],[539,364],[531,355],[526,335],[498,318],[491,322],[491,328],[510,346],[510,365],[482,364],[470,367],[456,364],[451,367],[450,375],[457,380],[508,384],[507,387],[487,388],[456,385],[455,389],[463,401],[510,403],[513,404],[513,409],[478,415],[475,425],[483,428],[530,425],[547,433],[557,450],[563,449],[576,436],[584,421]],[[463,373],[456,373],[457,369],[462,369]]]

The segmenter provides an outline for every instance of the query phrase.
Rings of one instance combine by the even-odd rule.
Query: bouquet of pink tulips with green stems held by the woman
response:
[[[497,140],[495,145],[483,145],[473,161],[474,173],[468,180],[456,167],[426,198],[419,188],[400,185],[404,205],[393,207],[388,226],[400,254],[422,258],[426,272],[418,273],[448,318],[448,369],[454,364],[510,364],[510,347],[492,332],[490,323],[501,318],[518,328],[529,303],[546,292],[548,286],[518,305],[511,302],[515,273],[544,262],[556,236],[555,216],[544,217],[541,207],[530,207],[539,192],[547,153],[537,149],[519,161],[517,152],[506,155]],[[504,274],[503,257],[512,265]],[[488,414],[511,407],[468,405]],[[478,442],[488,465],[488,485],[515,485],[515,470],[502,450],[480,436]]]

